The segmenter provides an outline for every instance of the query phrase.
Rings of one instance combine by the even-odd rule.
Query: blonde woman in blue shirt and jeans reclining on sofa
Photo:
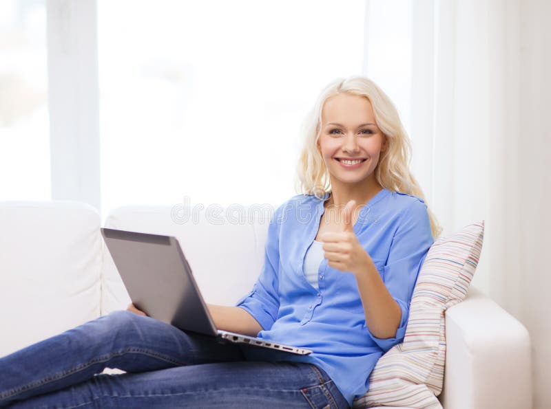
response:
[[[404,339],[409,302],[439,227],[408,170],[395,107],[371,80],[335,80],[306,120],[301,195],[269,225],[264,267],[216,327],[311,349],[219,344],[128,311],[0,360],[14,408],[348,408]],[[95,375],[104,368],[122,375]]]

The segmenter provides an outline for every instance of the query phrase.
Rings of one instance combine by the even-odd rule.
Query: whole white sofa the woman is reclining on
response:
[[[262,268],[273,208],[191,210],[127,206],[105,227],[176,236],[205,300],[233,305]],[[100,227],[84,203],[0,202],[0,357],[127,307]],[[528,332],[481,291],[446,311],[446,341],[444,408],[531,408]]]

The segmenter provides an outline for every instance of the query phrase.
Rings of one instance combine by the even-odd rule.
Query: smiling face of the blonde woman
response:
[[[375,183],[373,173],[386,137],[375,124],[373,107],[367,98],[340,93],[328,98],[322,109],[322,130],[318,146],[329,170],[331,186]],[[343,159],[360,159],[352,164]]]

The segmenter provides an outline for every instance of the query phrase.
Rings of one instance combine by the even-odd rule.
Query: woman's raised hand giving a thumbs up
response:
[[[354,232],[352,215],[355,205],[355,200],[351,200],[340,210],[340,232],[324,232],[320,236],[320,241],[324,243],[327,265],[354,275],[364,272],[371,261],[371,256],[364,250]]]

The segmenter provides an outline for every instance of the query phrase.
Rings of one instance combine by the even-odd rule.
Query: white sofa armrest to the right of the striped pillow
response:
[[[530,335],[475,287],[446,311],[446,409],[531,408]]]

